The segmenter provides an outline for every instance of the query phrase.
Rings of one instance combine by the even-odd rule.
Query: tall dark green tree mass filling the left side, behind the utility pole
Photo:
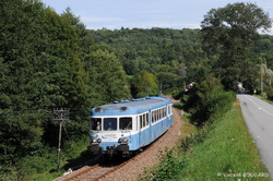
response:
[[[3,0],[0,24],[2,162],[35,155],[43,143],[51,143],[51,137],[46,138],[54,132],[47,126],[48,112],[55,107],[86,111],[88,93],[80,35],[70,19],[38,0]],[[69,131],[83,131],[79,120],[71,116],[76,126]]]

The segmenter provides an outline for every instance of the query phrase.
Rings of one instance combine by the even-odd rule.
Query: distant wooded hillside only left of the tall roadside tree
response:
[[[179,87],[197,79],[197,71],[210,67],[199,40],[199,32],[121,28],[90,33],[95,44],[107,44],[116,48],[128,75],[135,75],[145,70],[155,74],[165,87]]]

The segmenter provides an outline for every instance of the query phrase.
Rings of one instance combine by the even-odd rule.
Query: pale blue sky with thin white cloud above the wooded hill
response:
[[[211,9],[228,3],[256,3],[273,19],[273,0],[41,0],[61,14],[67,8],[80,16],[88,29],[201,28]],[[273,35],[273,28],[266,33]]]

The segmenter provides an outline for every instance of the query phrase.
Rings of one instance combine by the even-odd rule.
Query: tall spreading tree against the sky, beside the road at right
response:
[[[248,84],[249,72],[254,68],[251,46],[259,31],[269,31],[272,21],[269,14],[253,3],[234,3],[212,9],[201,23],[201,36],[209,55],[216,50],[221,56],[214,64],[216,76],[226,89],[236,89],[237,82]]]

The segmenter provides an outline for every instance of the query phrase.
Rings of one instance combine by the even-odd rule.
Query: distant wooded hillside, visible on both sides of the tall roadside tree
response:
[[[205,51],[201,39],[200,29],[168,29],[168,28],[121,28],[116,31],[99,29],[90,31],[95,44],[110,45],[116,48],[119,60],[128,75],[135,75],[145,70],[156,75],[163,89],[166,87],[181,87],[191,82],[201,82],[205,74],[216,71],[217,60],[221,57],[219,48],[212,53]],[[261,63],[263,65],[264,79],[268,80],[264,86],[269,85],[269,79],[273,75],[269,70],[273,70],[273,37],[260,35],[249,48],[251,69],[244,64],[246,79],[235,79],[241,81],[247,89],[260,89],[259,75],[261,74]],[[245,45],[241,45],[245,46]],[[244,61],[247,62],[247,61]],[[238,69],[242,69],[241,67]],[[251,72],[252,76],[249,76]],[[266,73],[268,72],[268,73]],[[245,74],[244,74],[245,73]]]

